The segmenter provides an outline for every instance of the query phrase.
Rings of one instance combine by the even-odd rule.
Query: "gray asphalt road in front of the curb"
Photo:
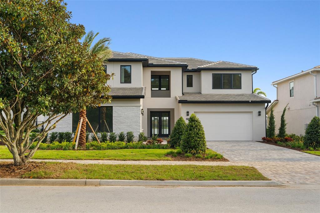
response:
[[[0,212],[320,212],[320,186],[1,186]]]

